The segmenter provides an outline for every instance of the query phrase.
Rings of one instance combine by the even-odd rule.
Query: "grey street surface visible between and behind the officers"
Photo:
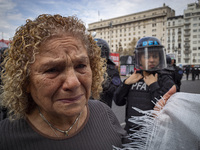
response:
[[[122,81],[126,77],[121,77]],[[186,75],[182,78],[181,92],[200,94],[200,80],[192,81],[192,75],[189,75],[189,80],[186,80]],[[125,106],[116,106],[113,102],[112,110],[116,114],[120,124],[124,126]]]

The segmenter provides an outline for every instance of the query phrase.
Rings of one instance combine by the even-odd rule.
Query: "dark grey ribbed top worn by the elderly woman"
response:
[[[0,122],[1,150],[111,150],[121,147],[126,135],[111,109],[104,103],[89,100],[85,123],[73,135],[52,138],[34,128],[28,120]]]

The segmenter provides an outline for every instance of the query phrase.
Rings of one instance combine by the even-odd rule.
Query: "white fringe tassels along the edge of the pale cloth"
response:
[[[163,97],[161,97],[162,100]],[[159,101],[155,98],[156,101]],[[132,116],[128,121],[142,126],[139,130],[134,128],[130,129],[134,131],[133,134],[129,134],[129,139],[131,143],[123,144],[124,148],[113,147],[113,150],[147,150],[148,143],[153,139],[154,132],[156,131],[157,122],[155,119],[159,116],[160,110],[163,106],[160,106],[158,103],[152,103],[158,106],[158,110],[146,110],[143,111],[136,107],[132,107],[137,112],[143,114],[143,116]]]

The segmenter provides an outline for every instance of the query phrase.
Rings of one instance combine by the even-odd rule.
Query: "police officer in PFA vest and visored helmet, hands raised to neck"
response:
[[[152,110],[157,102],[156,99],[160,99],[175,85],[169,75],[159,72],[166,67],[166,58],[164,47],[157,38],[141,38],[136,45],[135,59],[136,68],[141,73],[134,71],[121,83],[114,94],[116,105],[126,105],[125,130],[129,134],[135,133],[142,127],[128,121],[132,116],[143,115],[133,107]]]

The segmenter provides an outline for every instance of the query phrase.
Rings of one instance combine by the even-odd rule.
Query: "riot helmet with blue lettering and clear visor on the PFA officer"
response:
[[[141,38],[135,48],[135,65],[137,69],[158,71],[166,68],[164,46],[155,37]]]

